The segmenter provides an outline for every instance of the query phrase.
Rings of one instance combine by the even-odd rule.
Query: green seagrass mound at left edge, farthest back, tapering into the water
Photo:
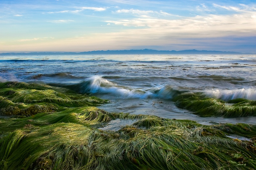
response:
[[[31,116],[66,107],[97,106],[106,102],[48,85],[18,82],[0,83],[0,114]]]

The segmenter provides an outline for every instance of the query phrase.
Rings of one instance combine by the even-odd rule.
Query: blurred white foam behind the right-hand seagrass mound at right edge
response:
[[[221,89],[213,89],[207,90],[206,95],[208,97],[221,99],[224,101],[243,98],[248,100],[256,100],[256,90],[253,88],[242,88],[236,90],[221,90]]]

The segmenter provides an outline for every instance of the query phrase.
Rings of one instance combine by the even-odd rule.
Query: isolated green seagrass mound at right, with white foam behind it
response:
[[[236,99],[227,102],[204,98],[198,94],[184,94],[176,97],[176,106],[193,111],[200,116],[243,117],[256,115],[256,101]]]

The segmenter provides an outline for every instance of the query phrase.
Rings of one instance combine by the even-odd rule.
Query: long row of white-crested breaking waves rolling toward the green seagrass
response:
[[[224,101],[243,98],[248,100],[256,100],[256,90],[253,88],[242,88],[236,90],[188,90],[188,88],[175,87],[172,85],[164,85],[162,87],[151,88],[132,88],[129,86],[118,85],[101,76],[93,76],[76,85],[69,86],[70,89],[80,93],[90,94],[108,94],[122,99],[173,99],[182,93],[202,92],[206,97],[221,99]]]

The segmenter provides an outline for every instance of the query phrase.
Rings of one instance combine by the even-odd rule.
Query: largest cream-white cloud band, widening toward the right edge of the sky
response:
[[[205,15],[184,19],[133,18],[107,20],[105,22],[123,26],[148,27],[151,33],[180,34],[189,36],[222,36],[238,33],[254,33],[256,28],[255,12],[241,12],[231,15]],[[147,30],[143,30],[145,32]]]

